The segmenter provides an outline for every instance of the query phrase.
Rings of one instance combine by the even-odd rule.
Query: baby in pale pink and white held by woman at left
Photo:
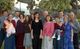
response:
[[[16,31],[15,31],[15,27],[13,26],[13,24],[8,21],[8,20],[5,20],[4,21],[4,24],[5,24],[5,29],[6,29],[6,36],[9,37],[11,36],[12,34],[14,34]]]

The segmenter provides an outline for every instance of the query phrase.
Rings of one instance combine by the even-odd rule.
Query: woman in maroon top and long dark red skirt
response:
[[[24,49],[23,39],[24,39],[24,15],[20,14],[20,19],[16,26],[16,49]]]

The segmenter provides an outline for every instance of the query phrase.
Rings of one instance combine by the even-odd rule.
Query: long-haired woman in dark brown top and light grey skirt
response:
[[[31,39],[31,20],[29,16],[25,17],[24,21],[24,46],[25,49],[31,49],[32,47],[32,39]]]

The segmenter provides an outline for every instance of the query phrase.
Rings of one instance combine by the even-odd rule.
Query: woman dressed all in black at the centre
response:
[[[34,13],[34,20],[32,21],[32,42],[33,42],[33,49],[41,49],[41,37],[42,37],[42,21],[39,19],[39,13]]]

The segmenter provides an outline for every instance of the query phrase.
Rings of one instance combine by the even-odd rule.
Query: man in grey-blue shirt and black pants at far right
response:
[[[73,12],[70,12],[69,20],[70,20],[71,26],[73,27],[74,49],[79,49],[78,33],[80,31],[80,24],[79,24],[78,20],[76,19],[75,14]]]

